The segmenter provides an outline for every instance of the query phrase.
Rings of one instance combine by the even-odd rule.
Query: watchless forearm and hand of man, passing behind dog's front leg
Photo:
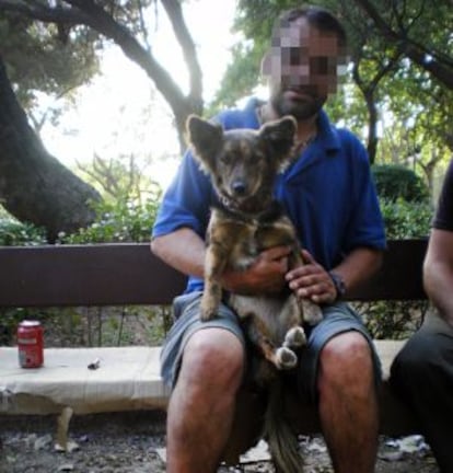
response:
[[[204,277],[205,241],[191,229],[181,228],[151,241],[151,251],[167,265],[186,275]],[[278,291],[286,284],[290,249],[278,246],[257,257],[247,270],[224,273],[222,286],[237,293]]]

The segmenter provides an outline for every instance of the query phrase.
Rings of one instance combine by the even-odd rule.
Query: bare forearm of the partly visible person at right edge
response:
[[[453,232],[432,229],[423,263],[423,286],[442,318],[453,326]]]

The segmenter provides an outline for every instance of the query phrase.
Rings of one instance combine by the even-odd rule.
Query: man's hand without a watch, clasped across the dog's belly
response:
[[[245,270],[226,269],[222,276],[223,288],[242,295],[280,292],[287,284],[290,253],[288,246],[275,246],[262,252]]]

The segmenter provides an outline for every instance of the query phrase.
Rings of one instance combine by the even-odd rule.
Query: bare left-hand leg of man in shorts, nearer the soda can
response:
[[[244,356],[241,342],[222,328],[200,330],[187,342],[167,412],[169,473],[217,471],[230,436]]]

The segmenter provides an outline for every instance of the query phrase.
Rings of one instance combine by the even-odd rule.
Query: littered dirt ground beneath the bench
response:
[[[164,425],[164,414],[154,412],[76,416],[69,434],[78,448],[65,453],[54,447],[55,417],[0,416],[0,473],[162,473]],[[300,440],[304,472],[332,473],[323,440]],[[426,448],[408,453],[393,443],[391,439],[381,439],[376,473],[439,472]],[[403,450],[411,450],[414,442],[406,443]],[[268,461],[252,459],[249,463],[221,466],[218,473],[242,472],[272,473],[274,468]]]

